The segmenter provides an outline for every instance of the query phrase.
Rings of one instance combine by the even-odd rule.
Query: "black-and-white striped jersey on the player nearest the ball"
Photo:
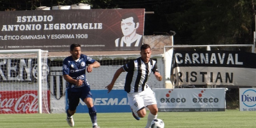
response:
[[[141,57],[126,63],[123,69],[127,72],[125,79],[125,91],[127,93],[144,91],[148,87],[147,80],[150,73],[158,72],[155,60],[150,58],[150,61],[145,63]]]

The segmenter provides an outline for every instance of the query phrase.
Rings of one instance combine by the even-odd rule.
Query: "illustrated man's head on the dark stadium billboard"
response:
[[[133,17],[129,17],[126,19],[123,19],[121,21],[121,29],[124,34],[124,36],[129,36],[132,33],[136,32],[136,29],[138,28],[139,23],[137,25],[133,22]]]

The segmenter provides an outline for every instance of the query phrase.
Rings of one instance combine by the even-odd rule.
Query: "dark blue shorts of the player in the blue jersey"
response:
[[[79,91],[68,90],[67,93],[69,110],[71,111],[76,110],[76,107],[79,104],[80,99],[84,101],[85,98],[92,98],[89,86],[81,87]]]

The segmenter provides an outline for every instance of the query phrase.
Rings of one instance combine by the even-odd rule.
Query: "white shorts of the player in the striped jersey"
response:
[[[127,93],[127,98],[134,113],[143,107],[156,104],[155,94],[150,88],[147,88],[140,93]]]

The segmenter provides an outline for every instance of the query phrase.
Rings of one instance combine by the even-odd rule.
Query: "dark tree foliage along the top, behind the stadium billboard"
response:
[[[0,0],[1,11],[87,3],[92,9],[145,8],[144,35],[177,34],[174,44],[253,44],[254,0]]]

